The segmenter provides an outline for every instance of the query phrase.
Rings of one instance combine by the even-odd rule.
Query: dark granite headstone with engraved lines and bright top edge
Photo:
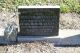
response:
[[[20,6],[19,35],[56,36],[59,31],[59,6]]]

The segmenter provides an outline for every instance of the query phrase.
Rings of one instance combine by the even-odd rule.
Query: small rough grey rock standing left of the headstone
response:
[[[6,41],[16,41],[18,27],[14,23],[8,23],[4,31],[4,38]]]

